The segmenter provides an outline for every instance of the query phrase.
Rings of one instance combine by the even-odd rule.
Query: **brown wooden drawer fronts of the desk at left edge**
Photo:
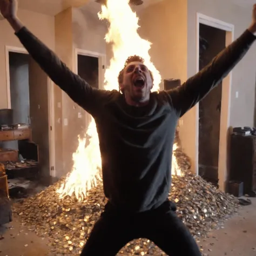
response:
[[[6,142],[10,140],[23,140],[28,139],[31,141],[31,129],[16,129],[0,131],[0,142]]]

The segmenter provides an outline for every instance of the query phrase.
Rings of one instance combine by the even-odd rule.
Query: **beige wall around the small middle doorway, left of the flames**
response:
[[[63,30],[65,28],[65,30]],[[69,8],[58,14],[55,18],[56,53],[62,60],[75,71],[75,48],[105,54],[105,32],[103,22],[97,15],[92,15],[86,7]],[[56,123],[56,174],[58,177],[71,171],[72,154],[78,147],[78,135],[84,136],[86,112],[74,103],[65,92],[55,90],[55,114],[61,118],[62,124]],[[62,109],[58,109],[57,102],[61,102]],[[78,113],[82,118],[78,118]],[[68,119],[68,125],[64,125]],[[62,155],[61,155],[62,150]]]

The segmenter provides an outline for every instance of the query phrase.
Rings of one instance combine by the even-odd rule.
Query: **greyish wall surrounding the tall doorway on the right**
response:
[[[196,14],[201,14],[220,19],[234,25],[234,38],[237,38],[250,25],[251,10],[230,4],[228,1],[204,1],[188,0],[187,18],[187,76],[196,73]],[[252,126],[254,117],[254,91],[255,91],[255,64],[256,44],[244,59],[234,68],[231,86],[231,126]],[[239,98],[235,98],[235,92],[239,92]],[[194,107],[184,116],[184,126],[190,127],[190,132],[181,134],[181,141],[185,152],[191,157],[193,166],[197,154],[195,144],[196,134],[196,108]],[[185,128],[184,128],[185,130]]]

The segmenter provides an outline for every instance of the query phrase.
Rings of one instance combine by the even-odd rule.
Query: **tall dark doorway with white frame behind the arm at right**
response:
[[[234,25],[220,21],[219,19],[215,19],[215,18],[206,16],[204,14],[197,13],[197,31],[196,31],[197,32],[197,37],[196,37],[197,38],[197,44],[196,44],[197,72],[200,70],[201,66],[204,65],[204,63],[200,63],[200,61],[199,61],[200,29],[202,30],[202,28],[203,28],[203,26],[201,26],[201,25],[206,25],[207,26],[206,28],[208,28],[210,26],[211,28],[215,28],[215,29],[219,29],[219,30],[223,31],[223,33],[225,33],[225,35],[223,36],[223,38],[225,37],[225,46],[230,45],[234,41]],[[206,47],[207,44],[206,44],[206,42],[204,42],[204,43],[205,43],[204,47]],[[203,44],[202,39],[201,39],[201,44]],[[210,49],[210,45],[208,46],[208,48]],[[219,125],[215,126],[215,127],[219,127],[219,130],[215,129],[215,134],[219,133],[219,137],[218,137],[219,142],[217,143],[217,146],[215,145],[215,147],[212,148],[212,151],[215,150],[215,156],[218,156],[218,158],[215,157],[214,160],[213,160],[213,158],[211,159],[210,164],[212,164],[212,163],[214,163],[214,164],[209,165],[209,166],[214,167],[214,168],[211,168],[211,169],[213,169],[213,172],[208,171],[208,173],[210,172],[210,174],[211,174],[211,176],[209,175],[210,177],[208,177],[208,178],[211,178],[212,182],[214,182],[214,181],[215,181],[215,183],[218,182],[218,186],[219,186],[220,190],[222,190],[222,191],[226,191],[226,185],[227,185],[227,180],[228,180],[228,170],[229,170],[228,139],[230,137],[231,85],[232,85],[232,72],[230,72],[228,74],[228,76],[226,78],[224,78],[222,81],[222,86],[220,87],[221,88],[221,96],[220,96],[220,91],[218,91],[218,89],[215,92],[213,91],[213,93],[217,93],[217,91],[218,91],[218,93],[219,93],[218,98],[221,98],[221,101],[218,102],[217,106],[215,107],[215,109],[217,111],[217,113],[215,112],[215,115],[217,116],[217,114],[220,114],[220,117],[219,117],[220,120],[218,121]],[[209,97],[211,97],[211,96],[209,96]],[[202,156],[204,156],[204,155],[201,155],[200,159],[199,159],[199,144],[200,144],[200,152],[201,153],[203,150],[210,151],[211,149],[208,149],[208,144],[204,145],[204,148],[203,148],[203,142],[202,141],[199,142],[199,137],[203,136],[203,134],[199,135],[199,132],[200,132],[199,125],[202,125],[202,123],[204,123],[203,118],[204,118],[205,114],[204,114],[204,112],[202,112],[202,105],[201,105],[201,113],[199,112],[199,109],[200,109],[199,104],[196,105],[195,109],[196,109],[196,116],[195,116],[196,117],[196,134],[195,134],[196,145],[195,145],[195,155],[194,155],[195,156],[194,170],[196,170],[196,174],[199,174],[199,161],[201,160],[201,158],[203,158]],[[200,121],[201,124],[199,122],[199,116],[202,118]],[[208,128],[208,130],[209,129],[210,128]],[[212,133],[214,134],[214,132],[212,132]],[[207,134],[205,133],[204,136],[207,136]],[[206,139],[207,139],[207,137],[206,137]],[[203,154],[204,154],[204,152],[203,152]],[[216,166],[214,166],[214,165],[216,165],[216,162],[218,162],[217,168],[216,168]],[[207,163],[207,161],[206,161],[206,164],[208,165],[209,163]],[[203,164],[200,163],[200,165],[203,165]],[[202,174],[202,176],[204,174],[204,171],[202,169],[200,170],[200,174]]]

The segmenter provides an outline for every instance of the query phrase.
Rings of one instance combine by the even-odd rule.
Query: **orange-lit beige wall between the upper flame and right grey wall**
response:
[[[149,6],[139,12],[139,25],[139,35],[152,43],[150,55],[162,79],[185,81],[187,1],[165,0]]]

